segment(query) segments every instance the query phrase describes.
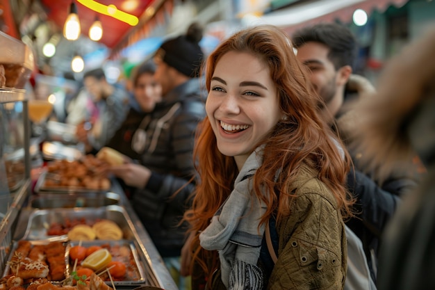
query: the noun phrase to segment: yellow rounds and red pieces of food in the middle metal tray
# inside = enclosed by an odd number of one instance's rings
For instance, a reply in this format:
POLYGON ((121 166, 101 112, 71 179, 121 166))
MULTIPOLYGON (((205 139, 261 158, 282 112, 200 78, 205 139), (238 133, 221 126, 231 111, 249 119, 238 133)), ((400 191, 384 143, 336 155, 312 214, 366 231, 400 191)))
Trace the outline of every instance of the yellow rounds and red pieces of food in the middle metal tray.
POLYGON ((95 239, 117 241, 124 236, 120 226, 112 220, 98 219, 91 223, 85 218, 72 221, 65 219, 65 225, 52 223, 47 229, 49 236, 61 234, 67 234, 70 241, 93 241, 95 239))

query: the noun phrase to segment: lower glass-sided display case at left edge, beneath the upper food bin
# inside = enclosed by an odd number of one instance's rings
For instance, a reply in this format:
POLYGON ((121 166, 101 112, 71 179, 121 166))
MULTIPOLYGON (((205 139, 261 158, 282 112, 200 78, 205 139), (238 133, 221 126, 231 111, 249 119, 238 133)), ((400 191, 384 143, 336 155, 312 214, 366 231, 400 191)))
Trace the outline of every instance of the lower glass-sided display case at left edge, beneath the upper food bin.
POLYGON ((30 193, 29 121, 24 90, 0 88, 0 259, 30 193))

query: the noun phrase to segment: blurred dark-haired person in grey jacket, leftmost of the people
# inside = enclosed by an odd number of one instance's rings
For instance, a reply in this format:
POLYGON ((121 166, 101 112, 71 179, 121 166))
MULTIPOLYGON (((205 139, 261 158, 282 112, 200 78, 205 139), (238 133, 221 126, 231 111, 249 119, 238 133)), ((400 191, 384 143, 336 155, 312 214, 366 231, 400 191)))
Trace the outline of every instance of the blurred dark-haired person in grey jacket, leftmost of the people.
POLYGON ((120 86, 108 83, 101 68, 85 72, 83 84, 89 95, 86 117, 77 124, 76 137, 85 144, 85 152, 95 153, 124 121, 129 110, 129 95, 120 86))

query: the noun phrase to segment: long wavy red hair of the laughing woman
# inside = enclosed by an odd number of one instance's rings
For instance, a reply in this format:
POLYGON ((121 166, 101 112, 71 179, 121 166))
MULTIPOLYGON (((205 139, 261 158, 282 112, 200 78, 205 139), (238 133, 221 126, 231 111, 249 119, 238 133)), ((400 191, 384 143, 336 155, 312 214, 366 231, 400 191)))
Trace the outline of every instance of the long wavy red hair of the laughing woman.
MULTIPOLYGON (((303 164, 318 171, 318 178, 334 194, 343 217, 352 216, 352 198, 345 188, 350 158, 318 114, 322 101, 312 89, 304 67, 297 61, 288 37, 274 26, 256 26, 224 40, 206 61, 208 91, 217 62, 229 51, 253 54, 268 65, 270 76, 277 86, 281 111, 287 116, 262 142, 265 144, 263 164, 254 175, 255 194, 267 205, 261 223, 266 223, 274 212, 277 212, 278 219, 291 214, 290 205, 294 198, 292 184, 303 164), (276 178, 279 171, 281 174, 276 178), (260 191, 264 186, 271 193, 266 197, 260 191)), ((196 233, 191 243, 195 251, 194 259, 207 275, 217 264, 207 267, 206 260, 217 256, 215 252, 207 252, 197 246, 199 232, 209 225, 217 209, 231 193, 238 168, 233 157, 224 156, 217 150, 208 118, 199 124, 194 156, 199 181, 192 208, 186 211, 184 218, 191 225, 190 231, 196 233)))

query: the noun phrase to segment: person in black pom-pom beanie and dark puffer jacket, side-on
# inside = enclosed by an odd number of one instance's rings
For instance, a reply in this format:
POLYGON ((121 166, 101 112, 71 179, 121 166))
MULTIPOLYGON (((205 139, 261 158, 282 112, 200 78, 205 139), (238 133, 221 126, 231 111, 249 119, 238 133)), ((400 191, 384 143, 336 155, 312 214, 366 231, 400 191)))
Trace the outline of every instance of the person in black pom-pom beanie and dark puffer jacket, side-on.
POLYGON ((163 95, 143 128, 140 162, 110 168, 126 185, 135 188, 131 196, 133 209, 179 289, 185 289, 188 283, 179 275, 187 229, 180 221, 190 207, 188 199, 195 188, 192 152, 197 124, 205 116, 202 97, 206 92, 198 78, 204 56, 198 45, 201 39, 202 27, 191 24, 186 35, 166 40, 158 49, 154 77, 163 95))

